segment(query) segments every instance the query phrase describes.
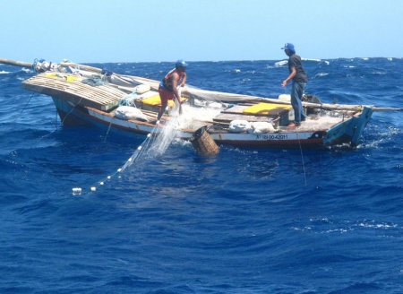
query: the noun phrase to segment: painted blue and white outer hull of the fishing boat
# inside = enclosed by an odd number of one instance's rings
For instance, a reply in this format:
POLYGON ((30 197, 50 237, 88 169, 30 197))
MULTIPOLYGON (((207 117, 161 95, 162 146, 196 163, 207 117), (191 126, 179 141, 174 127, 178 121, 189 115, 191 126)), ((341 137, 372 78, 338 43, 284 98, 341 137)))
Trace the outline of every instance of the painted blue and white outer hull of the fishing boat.
MULTIPOLYGON (((64 125, 94 125, 108 132, 132 136, 138 134, 159 134, 163 126, 151 125, 137 120, 122 120, 95 108, 74 105, 73 102, 53 97, 59 116, 64 125)), ((350 117, 330 130, 321 131, 282 131, 269 134, 233 134, 211 131, 211 138, 220 145, 262 148, 323 148, 335 144, 351 143, 356 145, 364 126, 372 114, 370 108, 364 109, 357 117, 350 117)), ((180 131, 181 139, 190 140, 192 130, 180 131)))

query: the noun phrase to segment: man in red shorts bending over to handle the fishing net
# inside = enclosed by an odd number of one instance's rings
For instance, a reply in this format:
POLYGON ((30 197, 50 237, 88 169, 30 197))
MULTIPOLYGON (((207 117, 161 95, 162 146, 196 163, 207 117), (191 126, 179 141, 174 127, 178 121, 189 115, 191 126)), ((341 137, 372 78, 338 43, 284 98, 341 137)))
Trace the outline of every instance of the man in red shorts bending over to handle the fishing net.
POLYGON ((186 83, 186 66, 184 60, 176 61, 175 68, 171 70, 159 83, 159 98, 161 99, 161 108, 157 120, 162 117, 167 108, 168 100, 175 100, 179 105, 179 114, 182 114, 181 95, 178 86, 184 87, 186 83))

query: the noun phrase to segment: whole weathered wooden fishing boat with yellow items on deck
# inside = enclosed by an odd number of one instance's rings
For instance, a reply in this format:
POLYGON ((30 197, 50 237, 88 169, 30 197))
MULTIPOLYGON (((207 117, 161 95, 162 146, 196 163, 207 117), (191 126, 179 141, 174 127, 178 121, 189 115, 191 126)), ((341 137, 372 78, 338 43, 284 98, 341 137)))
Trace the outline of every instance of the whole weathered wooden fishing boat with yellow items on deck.
POLYGON ((155 124, 160 107, 158 81, 105 73, 90 66, 72 66, 49 65, 43 73, 22 84, 29 91, 50 96, 64 125, 89 124, 124 135, 158 135, 175 121, 176 135, 184 140, 190 140, 196 130, 206 126, 218 144, 279 148, 355 146, 373 110, 381 109, 323 104, 308 95, 303 103, 306 120, 290 128, 287 125, 293 111, 287 97, 268 99, 184 87, 185 119, 180 119, 184 115, 170 115, 175 108, 172 104, 160 123, 155 124))

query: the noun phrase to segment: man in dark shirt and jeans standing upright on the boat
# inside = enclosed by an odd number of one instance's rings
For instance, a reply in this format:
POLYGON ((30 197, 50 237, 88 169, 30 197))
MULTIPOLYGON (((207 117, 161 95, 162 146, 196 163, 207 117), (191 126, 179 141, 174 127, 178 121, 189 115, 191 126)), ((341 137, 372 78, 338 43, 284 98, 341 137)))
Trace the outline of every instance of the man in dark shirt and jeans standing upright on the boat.
POLYGON ((283 87, 286 87, 288 82, 290 82, 291 80, 293 81, 293 88, 291 90, 291 105, 294 109, 294 122, 290 123, 288 126, 296 127, 298 125, 301 125, 301 122, 306 119, 304 108, 302 105, 302 98, 306 82, 308 82, 308 76, 304 72, 301 57, 296 55, 296 49, 294 48, 294 45, 291 43, 286 43, 286 45, 281 49, 283 49, 289 57, 289 75, 287 79, 281 83, 281 85, 283 87))

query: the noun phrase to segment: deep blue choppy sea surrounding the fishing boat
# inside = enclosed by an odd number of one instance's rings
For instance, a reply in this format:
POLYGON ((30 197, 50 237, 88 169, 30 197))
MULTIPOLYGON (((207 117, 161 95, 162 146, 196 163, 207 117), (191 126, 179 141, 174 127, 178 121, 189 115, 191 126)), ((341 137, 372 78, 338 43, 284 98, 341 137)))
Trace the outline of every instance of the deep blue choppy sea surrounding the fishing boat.
MULTIPOLYGON (((159 80, 170 63, 107 66, 159 80)), ((324 102, 403 108, 403 59, 304 60, 324 102)), ((279 61, 190 62, 188 83, 277 97, 279 61)), ((403 112, 356 149, 172 143, 63 126, 0 65, 0 293, 403 293, 403 112), (90 186, 114 175, 91 192, 90 186), (73 195, 73 187, 82 187, 73 195)))

